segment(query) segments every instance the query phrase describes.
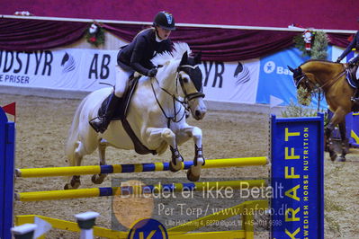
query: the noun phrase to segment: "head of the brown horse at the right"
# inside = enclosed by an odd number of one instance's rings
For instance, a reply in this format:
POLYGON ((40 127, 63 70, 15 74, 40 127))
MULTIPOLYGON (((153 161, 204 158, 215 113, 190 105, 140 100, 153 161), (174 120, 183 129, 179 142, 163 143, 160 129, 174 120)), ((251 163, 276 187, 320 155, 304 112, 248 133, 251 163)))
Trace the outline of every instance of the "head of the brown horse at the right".
POLYGON ((315 83, 310 79, 312 76, 310 73, 304 73, 301 66, 293 69, 288 66, 289 70, 293 73, 293 80, 295 87, 297 88, 297 99, 302 105, 310 105, 311 93, 315 88, 315 83))

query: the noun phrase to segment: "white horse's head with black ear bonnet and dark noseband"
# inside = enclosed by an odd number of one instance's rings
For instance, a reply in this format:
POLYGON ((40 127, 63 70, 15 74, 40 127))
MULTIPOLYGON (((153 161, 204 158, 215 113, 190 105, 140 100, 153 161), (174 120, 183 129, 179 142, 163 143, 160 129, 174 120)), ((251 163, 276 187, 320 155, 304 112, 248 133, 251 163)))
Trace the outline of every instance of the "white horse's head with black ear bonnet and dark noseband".
POLYGON ((201 63, 201 54, 194 58, 188 57, 187 51, 181 59, 177 68, 178 80, 181 84, 182 97, 191 110, 195 120, 202 120, 207 108, 204 104, 202 93, 202 71, 199 67, 201 63))

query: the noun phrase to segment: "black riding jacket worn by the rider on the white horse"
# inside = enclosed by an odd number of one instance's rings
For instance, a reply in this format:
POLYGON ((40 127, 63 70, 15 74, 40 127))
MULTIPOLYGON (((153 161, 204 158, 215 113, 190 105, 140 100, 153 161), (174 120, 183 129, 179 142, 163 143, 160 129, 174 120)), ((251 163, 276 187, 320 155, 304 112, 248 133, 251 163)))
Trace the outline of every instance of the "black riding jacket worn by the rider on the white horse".
POLYGON ((156 31, 148 29, 139 33, 129 45, 122 48, 117 55, 117 62, 130 66, 142 75, 148 75, 148 71, 153 68, 150 61, 157 53, 172 50, 171 40, 157 42, 156 31))

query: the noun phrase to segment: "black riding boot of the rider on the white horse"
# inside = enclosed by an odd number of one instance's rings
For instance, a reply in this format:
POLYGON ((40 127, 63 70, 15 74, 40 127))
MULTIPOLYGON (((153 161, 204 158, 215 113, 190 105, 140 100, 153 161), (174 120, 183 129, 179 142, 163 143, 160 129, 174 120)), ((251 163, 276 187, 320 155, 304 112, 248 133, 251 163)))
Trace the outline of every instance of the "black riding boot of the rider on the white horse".
POLYGON ((107 129, 112 119, 113 113, 115 111, 117 103, 121 98, 117 97, 114 93, 111 94, 110 100, 106 105, 106 110, 102 116, 98 116, 94 120, 91 120, 89 123, 98 133, 102 133, 107 129))

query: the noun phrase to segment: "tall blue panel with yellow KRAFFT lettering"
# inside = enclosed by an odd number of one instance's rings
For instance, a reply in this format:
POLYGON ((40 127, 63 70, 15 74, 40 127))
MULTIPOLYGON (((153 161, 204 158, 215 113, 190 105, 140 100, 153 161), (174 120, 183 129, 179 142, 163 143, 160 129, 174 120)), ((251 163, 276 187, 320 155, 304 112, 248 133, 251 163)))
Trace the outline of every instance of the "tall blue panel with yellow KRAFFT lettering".
POLYGON ((272 119, 273 238, 324 238, 323 134, 323 115, 272 119))

